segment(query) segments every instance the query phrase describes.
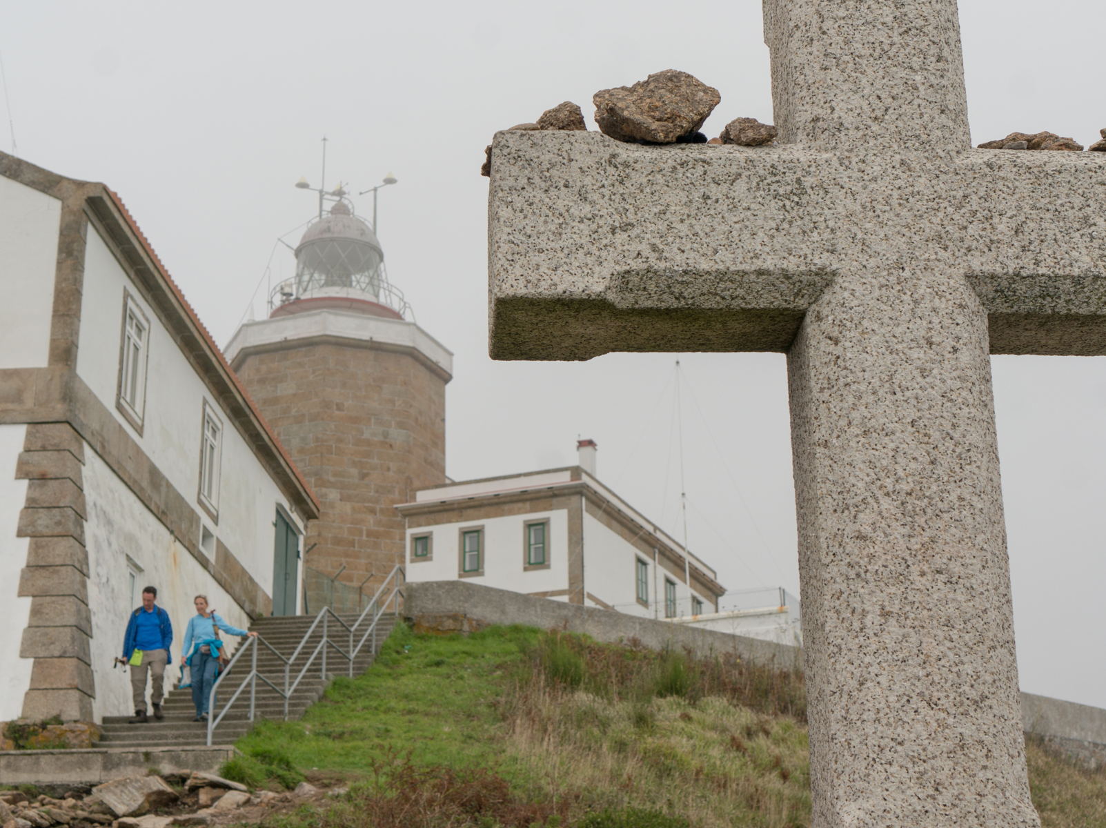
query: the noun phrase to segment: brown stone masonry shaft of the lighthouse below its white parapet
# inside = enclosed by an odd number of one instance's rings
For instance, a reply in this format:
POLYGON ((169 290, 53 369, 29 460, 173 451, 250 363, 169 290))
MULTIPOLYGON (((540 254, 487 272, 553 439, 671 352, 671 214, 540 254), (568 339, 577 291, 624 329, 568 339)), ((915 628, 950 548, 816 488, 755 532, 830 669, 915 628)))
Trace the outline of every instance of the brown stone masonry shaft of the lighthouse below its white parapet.
POLYGON ((234 367, 322 503, 306 566, 365 590, 404 560, 394 509, 446 482, 446 381, 413 354, 313 343, 236 356, 234 367))

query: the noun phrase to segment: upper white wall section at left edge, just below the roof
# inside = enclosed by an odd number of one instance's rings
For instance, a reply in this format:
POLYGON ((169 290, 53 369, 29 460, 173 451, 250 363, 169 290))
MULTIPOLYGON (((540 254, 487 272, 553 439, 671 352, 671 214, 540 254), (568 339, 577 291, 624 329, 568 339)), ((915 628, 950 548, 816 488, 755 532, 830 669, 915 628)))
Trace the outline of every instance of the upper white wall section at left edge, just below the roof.
POLYGON ((50 357, 62 202, 0 176, 0 368, 43 368, 50 357))

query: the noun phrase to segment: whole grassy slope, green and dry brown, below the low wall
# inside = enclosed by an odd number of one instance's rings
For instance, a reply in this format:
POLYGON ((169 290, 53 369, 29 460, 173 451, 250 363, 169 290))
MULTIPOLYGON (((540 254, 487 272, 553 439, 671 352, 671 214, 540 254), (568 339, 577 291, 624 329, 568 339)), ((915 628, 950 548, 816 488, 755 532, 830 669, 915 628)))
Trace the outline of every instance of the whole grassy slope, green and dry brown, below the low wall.
MULTIPOLYGON (((810 825, 802 672, 732 656, 494 627, 396 627, 299 722, 239 740, 223 775, 349 780, 267 828, 799 828, 810 825)), ((1044 828, 1106 828, 1106 772, 1027 745, 1044 828)))

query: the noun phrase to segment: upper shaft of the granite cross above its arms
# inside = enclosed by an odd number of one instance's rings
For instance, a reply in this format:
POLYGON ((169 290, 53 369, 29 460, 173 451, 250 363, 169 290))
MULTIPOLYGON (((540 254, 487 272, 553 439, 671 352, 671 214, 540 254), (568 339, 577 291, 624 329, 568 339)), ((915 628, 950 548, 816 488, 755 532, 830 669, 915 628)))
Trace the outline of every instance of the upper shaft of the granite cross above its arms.
POLYGON ((781 144, 969 146, 956 0, 763 0, 781 144))

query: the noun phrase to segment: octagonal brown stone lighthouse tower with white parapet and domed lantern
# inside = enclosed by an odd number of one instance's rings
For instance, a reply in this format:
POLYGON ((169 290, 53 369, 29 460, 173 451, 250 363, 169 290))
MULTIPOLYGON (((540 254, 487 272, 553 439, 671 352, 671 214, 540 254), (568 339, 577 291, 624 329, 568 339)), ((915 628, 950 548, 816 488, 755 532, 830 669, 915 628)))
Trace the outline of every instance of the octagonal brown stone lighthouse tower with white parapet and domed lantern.
POLYGON ((227 346, 322 503, 302 544, 312 614, 324 601, 353 609, 364 600, 358 586, 372 596, 404 562, 394 506, 446 482, 452 373, 452 354, 407 318, 409 306, 388 283, 375 201, 371 226, 341 187, 317 192, 319 218, 295 249, 294 279, 273 291, 269 317, 247 322, 227 346))

